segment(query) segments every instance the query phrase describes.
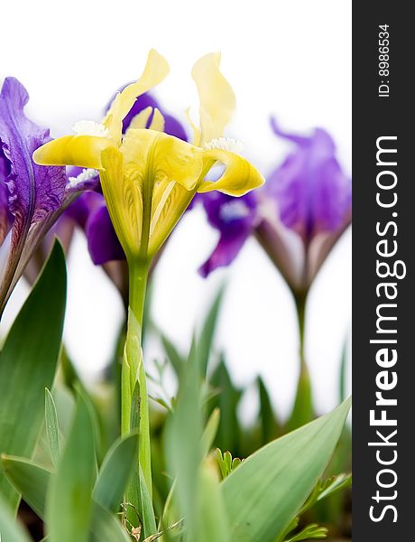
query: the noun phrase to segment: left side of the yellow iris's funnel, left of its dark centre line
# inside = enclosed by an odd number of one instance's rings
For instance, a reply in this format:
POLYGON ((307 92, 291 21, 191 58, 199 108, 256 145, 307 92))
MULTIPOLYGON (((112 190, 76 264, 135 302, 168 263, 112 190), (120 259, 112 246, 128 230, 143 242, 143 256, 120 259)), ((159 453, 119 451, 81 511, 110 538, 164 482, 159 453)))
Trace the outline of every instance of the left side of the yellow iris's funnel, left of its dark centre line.
POLYGON ((126 257, 136 257, 143 223, 141 179, 124 170, 123 155, 115 148, 106 149, 101 161, 99 178, 115 233, 126 257))

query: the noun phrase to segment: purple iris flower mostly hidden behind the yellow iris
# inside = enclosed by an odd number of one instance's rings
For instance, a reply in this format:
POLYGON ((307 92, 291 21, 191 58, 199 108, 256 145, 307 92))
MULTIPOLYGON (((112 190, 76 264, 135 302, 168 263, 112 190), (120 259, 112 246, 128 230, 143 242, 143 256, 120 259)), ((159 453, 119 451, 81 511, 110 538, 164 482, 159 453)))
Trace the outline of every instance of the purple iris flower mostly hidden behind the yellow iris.
MULTIPOLYGON (((133 118, 146 107, 157 107, 161 111, 165 122, 164 131, 167 134, 175 135, 187 141, 186 132, 180 122, 166 113, 160 107, 159 102, 149 93, 145 93, 136 99, 134 106, 124 118, 124 132, 130 126, 133 118)), ((150 126, 152 122, 152 115, 148 120, 147 126, 150 126)), ((82 173, 82 169, 72 168, 69 174, 76 176, 79 173, 82 173)), ((88 238, 89 254, 94 264, 100 266, 112 260, 124 260, 124 251, 115 235, 114 227, 106 209, 104 196, 101 193, 97 193, 95 196, 95 198, 91 198, 88 192, 81 195, 77 201, 74 201, 68 212, 65 213, 66 217, 69 216, 75 219, 78 225, 84 229, 88 238)))

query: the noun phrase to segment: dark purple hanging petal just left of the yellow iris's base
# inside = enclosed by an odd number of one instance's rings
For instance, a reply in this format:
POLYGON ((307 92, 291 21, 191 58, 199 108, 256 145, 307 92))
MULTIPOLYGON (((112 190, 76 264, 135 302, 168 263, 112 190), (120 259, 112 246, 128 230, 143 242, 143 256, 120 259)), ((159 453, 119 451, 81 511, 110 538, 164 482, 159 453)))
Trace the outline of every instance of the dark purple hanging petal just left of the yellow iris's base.
POLYGON ((86 234, 89 254, 96 266, 111 260, 125 259, 105 203, 89 214, 86 234))

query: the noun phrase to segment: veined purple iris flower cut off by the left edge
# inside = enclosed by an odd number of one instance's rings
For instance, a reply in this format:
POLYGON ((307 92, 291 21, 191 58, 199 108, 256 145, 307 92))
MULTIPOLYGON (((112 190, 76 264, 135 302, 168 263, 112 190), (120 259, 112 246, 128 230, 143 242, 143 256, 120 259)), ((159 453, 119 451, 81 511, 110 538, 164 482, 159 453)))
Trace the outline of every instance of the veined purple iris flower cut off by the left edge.
POLYGON ((0 313, 32 250, 60 211, 67 184, 65 168, 32 161, 33 151, 51 137, 49 129, 24 115, 28 100, 17 79, 5 79, 0 93, 0 313))

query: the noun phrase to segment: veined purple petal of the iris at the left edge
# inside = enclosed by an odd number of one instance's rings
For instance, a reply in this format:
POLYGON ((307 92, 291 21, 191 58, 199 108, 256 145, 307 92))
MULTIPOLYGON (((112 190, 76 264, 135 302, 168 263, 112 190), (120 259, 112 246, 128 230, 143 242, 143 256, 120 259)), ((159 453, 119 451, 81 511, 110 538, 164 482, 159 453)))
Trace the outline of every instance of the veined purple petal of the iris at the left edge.
POLYGON ((32 153, 51 140, 49 130, 35 125, 23 113, 29 95, 14 78, 5 79, 0 94, 0 139, 10 165, 5 182, 14 215, 13 245, 30 226, 60 208, 67 177, 63 167, 34 164, 32 153))

